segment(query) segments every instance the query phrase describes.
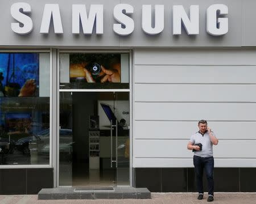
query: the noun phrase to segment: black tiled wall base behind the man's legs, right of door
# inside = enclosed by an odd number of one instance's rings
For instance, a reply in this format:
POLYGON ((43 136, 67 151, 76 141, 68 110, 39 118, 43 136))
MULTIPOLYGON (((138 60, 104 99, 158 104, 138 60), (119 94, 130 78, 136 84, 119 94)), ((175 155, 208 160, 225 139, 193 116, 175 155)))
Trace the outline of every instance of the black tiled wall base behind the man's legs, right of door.
MULTIPOLYGON (((197 192, 194 168, 134 168, 134 187, 151 192, 197 192)), ((207 179, 204 174, 204 191, 207 179)), ((256 168, 214 168, 214 192, 256 192, 256 168)))

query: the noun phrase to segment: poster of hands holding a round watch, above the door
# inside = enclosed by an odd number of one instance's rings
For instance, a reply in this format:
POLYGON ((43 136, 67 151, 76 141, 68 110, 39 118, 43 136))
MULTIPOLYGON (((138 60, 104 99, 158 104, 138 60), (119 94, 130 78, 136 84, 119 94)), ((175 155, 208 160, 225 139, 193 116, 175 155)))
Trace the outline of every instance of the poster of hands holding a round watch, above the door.
POLYGON ((71 83, 121 83, 121 54, 70 54, 69 78, 71 83))

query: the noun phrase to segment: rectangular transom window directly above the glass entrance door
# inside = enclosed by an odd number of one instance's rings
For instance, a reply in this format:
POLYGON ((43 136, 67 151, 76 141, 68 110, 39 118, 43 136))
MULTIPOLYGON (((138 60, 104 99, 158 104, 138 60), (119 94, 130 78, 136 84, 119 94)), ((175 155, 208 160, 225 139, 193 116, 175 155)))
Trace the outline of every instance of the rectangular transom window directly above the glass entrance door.
POLYGON ((129 53, 60 53, 60 89, 117 88, 129 88, 129 53))

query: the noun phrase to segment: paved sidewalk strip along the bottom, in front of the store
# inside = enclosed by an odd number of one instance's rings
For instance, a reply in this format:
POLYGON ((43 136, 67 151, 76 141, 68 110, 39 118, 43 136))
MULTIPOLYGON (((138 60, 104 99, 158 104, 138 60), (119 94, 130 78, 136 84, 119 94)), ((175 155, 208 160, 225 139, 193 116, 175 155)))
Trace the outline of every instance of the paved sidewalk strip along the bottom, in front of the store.
MULTIPOLYGON (((152 199, 96 199, 96 200, 51 200, 38 201, 37 195, 0 196, 0 204, 196 204, 208 203, 207 194, 203 200, 196 199, 197 193, 152 193, 152 199)), ((215 193, 215 204, 255 204, 256 193, 215 193)))

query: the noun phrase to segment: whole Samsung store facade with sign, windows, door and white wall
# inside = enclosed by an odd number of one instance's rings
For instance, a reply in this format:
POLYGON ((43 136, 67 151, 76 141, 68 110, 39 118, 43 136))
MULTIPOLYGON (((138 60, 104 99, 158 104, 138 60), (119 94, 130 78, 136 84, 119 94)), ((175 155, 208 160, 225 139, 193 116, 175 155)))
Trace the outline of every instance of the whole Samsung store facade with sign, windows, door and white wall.
POLYGON ((0 194, 194 192, 202 118, 216 191, 255 192, 256 3, 217 3, 2 1, 0 194))

